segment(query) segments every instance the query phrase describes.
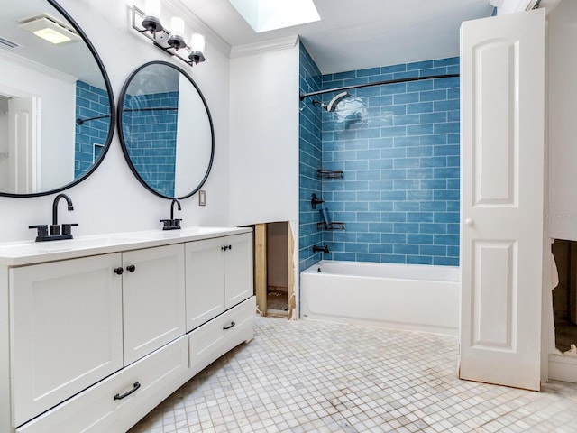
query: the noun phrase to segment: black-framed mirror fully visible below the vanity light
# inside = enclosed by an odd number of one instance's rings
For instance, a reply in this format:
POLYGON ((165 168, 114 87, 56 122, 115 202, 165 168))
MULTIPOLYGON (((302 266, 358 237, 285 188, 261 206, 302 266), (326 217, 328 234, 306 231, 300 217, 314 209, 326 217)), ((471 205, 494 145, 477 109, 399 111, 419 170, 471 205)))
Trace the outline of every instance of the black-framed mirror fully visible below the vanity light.
POLYGON ((215 155, 213 121, 197 84, 178 66, 151 61, 124 83, 118 101, 124 157, 162 198, 188 198, 206 182, 215 155))

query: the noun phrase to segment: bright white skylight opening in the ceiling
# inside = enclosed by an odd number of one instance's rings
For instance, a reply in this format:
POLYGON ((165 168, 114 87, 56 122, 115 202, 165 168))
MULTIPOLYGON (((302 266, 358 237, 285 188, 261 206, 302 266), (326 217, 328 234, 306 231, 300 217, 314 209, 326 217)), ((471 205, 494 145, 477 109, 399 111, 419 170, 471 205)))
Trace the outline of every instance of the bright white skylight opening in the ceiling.
POLYGON ((255 32, 313 23, 321 17, 313 0, 228 0, 255 32))

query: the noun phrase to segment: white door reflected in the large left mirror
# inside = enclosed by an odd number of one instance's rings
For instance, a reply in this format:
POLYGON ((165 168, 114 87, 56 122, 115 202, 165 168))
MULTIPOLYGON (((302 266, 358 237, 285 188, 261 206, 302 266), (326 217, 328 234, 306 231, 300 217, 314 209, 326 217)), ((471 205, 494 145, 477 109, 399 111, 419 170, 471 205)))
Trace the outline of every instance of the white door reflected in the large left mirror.
POLYGON ((20 97, 8 101, 9 190, 29 194, 41 189, 41 99, 20 97))

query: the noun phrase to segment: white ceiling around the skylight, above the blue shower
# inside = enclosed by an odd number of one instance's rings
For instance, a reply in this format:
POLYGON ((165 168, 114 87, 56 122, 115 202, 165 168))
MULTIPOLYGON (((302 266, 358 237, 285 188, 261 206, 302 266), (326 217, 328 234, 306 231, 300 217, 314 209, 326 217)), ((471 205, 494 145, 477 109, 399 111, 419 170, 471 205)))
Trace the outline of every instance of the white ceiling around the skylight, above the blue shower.
POLYGON ((314 0, 321 21, 256 33, 228 0, 179 0, 231 47, 298 34, 323 74, 459 55, 489 0, 314 0))

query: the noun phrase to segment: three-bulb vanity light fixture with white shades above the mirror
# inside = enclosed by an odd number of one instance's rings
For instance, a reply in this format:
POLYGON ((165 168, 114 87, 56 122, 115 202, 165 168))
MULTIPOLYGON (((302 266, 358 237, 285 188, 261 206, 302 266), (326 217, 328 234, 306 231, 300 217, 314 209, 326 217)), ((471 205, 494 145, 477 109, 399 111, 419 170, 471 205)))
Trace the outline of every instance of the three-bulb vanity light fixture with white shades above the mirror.
POLYGON ((133 29, 170 56, 177 57, 190 66, 205 61, 205 37, 194 33, 188 45, 184 37, 184 20, 178 16, 170 20, 170 29, 160 23, 160 1, 147 0, 146 12, 133 5, 133 29))

